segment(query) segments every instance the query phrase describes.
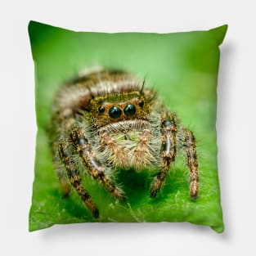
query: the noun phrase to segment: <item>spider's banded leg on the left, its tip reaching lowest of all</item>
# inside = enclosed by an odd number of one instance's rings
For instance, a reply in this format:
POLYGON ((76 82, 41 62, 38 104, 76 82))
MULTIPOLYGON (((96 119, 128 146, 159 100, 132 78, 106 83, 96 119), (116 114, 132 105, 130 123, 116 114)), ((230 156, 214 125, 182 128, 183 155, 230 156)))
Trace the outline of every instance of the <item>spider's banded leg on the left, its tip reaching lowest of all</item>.
POLYGON ((65 169, 70 179, 70 183, 74 186, 74 189, 82 198, 84 204, 90 210, 94 218, 99 217, 99 210, 97 209, 97 205, 93 203, 91 200, 91 196, 88 194, 81 184, 81 177, 79 174, 79 170, 76 168, 74 164, 74 159, 72 154, 70 154, 69 144, 67 142, 61 142, 58 147, 60 158, 65 164, 65 169))

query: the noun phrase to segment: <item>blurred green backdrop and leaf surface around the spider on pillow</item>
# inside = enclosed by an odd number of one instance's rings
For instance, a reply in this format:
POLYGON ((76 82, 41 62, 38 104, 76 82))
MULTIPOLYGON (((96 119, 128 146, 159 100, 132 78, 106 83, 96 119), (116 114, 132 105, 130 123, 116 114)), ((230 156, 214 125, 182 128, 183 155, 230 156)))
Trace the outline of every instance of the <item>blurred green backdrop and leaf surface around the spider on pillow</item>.
POLYGON ((128 195, 126 204, 116 201, 91 178, 83 177, 100 209, 98 221, 192 222, 223 231, 215 122, 218 45, 226 31, 227 25, 175 34, 103 34, 29 23, 38 124, 29 231, 56 223, 95 221, 75 192, 62 198, 46 133, 56 90, 65 80, 93 66, 129 70, 141 79, 146 76, 146 83, 195 133, 200 166, 200 197, 196 201, 189 197, 189 171, 182 154, 155 200, 149 197, 154 173, 147 170, 116 173, 115 180, 128 195))

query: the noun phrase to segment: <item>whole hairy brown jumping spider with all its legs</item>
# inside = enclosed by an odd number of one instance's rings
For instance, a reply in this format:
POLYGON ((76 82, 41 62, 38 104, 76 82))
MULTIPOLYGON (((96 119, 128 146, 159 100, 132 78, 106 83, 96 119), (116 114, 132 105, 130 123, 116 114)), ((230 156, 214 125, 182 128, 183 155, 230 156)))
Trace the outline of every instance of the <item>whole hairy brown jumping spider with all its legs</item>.
POLYGON ((88 173, 118 200, 124 191, 111 178, 116 168, 158 169, 150 186, 155 197, 164 184, 177 150, 190 169, 190 195, 199 190, 195 137, 163 106, 144 82, 120 70, 101 70, 67 83, 56 95, 49 136, 61 186, 74 187, 97 218, 99 211, 83 187, 88 173), (67 180, 70 182, 68 182, 67 180))

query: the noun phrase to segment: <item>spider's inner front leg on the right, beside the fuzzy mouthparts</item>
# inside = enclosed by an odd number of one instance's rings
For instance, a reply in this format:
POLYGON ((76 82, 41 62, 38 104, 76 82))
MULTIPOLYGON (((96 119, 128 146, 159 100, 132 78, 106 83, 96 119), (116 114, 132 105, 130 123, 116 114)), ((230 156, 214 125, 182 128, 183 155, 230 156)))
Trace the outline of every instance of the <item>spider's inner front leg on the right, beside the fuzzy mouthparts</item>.
POLYGON ((165 177, 167 177, 168 169, 175 160, 176 156, 176 132, 177 126, 173 115, 165 114, 161 116, 161 164, 154 181, 150 186, 150 197, 155 197, 164 185, 165 177))

